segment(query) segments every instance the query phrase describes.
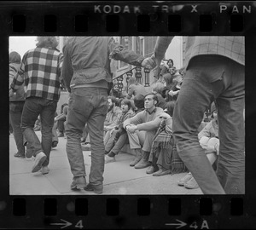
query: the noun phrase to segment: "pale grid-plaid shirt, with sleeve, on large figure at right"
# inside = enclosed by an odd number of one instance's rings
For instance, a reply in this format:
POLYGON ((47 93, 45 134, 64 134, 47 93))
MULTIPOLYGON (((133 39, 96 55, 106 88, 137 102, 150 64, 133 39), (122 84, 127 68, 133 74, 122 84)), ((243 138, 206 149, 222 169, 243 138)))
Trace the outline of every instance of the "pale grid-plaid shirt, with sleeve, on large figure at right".
MULTIPOLYGON (((173 37, 158 37, 154 47, 154 57, 162 60, 166 49, 172 42, 173 37)), ((184 37, 185 38, 185 61, 184 65, 189 65, 189 60, 197 55, 222 55, 235 60, 241 65, 245 65, 245 43, 244 37, 184 37)))

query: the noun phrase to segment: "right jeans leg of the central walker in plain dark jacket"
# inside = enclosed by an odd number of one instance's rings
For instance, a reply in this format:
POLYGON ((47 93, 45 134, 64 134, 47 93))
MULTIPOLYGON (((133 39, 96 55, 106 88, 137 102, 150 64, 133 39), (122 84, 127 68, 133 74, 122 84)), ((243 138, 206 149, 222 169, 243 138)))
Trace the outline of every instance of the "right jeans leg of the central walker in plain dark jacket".
POLYGON ((107 89, 95 89, 94 110, 88 119, 88 130, 91 143, 91 166, 89 181, 92 186, 102 186, 104 172, 104 121, 108 112, 107 89))

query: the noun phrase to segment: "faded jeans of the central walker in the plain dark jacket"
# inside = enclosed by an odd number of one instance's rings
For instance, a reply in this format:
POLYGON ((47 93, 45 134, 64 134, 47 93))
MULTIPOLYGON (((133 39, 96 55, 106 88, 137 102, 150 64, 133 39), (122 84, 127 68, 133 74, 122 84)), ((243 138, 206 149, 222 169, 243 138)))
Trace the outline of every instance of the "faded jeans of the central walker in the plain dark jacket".
POLYGON ((73 177, 84 176, 81 136, 87 124, 90 135, 91 166, 89 181, 102 185, 104 172, 104 121, 108 112, 108 89, 72 89, 67 112, 67 157, 73 177))

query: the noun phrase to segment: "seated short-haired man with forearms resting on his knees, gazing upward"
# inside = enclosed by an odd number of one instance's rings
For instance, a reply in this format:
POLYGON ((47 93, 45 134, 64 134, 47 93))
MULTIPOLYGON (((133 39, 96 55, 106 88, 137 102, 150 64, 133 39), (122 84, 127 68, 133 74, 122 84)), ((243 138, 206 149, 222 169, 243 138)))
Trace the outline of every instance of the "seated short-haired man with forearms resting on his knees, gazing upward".
MULTIPOLYGON (((142 112, 138 112, 132 118, 125 120, 124 127, 127 131, 129 137, 130 146, 133 144, 133 149, 141 149, 141 146, 137 137, 137 140, 134 140, 134 136, 131 135, 134 132, 144 130, 145 132, 145 141, 143 143, 143 156, 141 160, 135 164, 135 169, 143 169, 148 167, 151 163, 148 162, 149 153, 151 150, 151 145, 153 142, 154 135, 158 129, 158 126, 150 125, 150 121, 153 121, 160 112, 163 112, 163 109, 156 107, 158 103, 157 95, 154 93, 148 93, 144 97, 144 107, 145 109, 142 112)), ((139 154, 139 153, 138 153, 139 154)), ((139 156, 138 156, 139 158, 139 156)))

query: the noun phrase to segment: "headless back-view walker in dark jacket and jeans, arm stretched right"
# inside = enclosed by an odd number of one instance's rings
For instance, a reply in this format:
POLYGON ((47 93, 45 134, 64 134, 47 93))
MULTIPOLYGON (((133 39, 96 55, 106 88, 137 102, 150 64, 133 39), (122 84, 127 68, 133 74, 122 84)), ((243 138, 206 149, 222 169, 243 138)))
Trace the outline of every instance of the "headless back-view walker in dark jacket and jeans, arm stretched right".
POLYGON ((73 173, 71 189, 102 193, 104 172, 104 121, 108 112, 110 59, 145 66, 144 57, 126 50, 113 37, 71 37, 63 49, 62 78, 70 94, 67 113, 67 157, 73 173), (87 124, 91 143, 89 184, 80 145, 87 124), (85 187, 86 186, 86 187, 85 187))

